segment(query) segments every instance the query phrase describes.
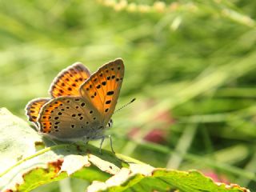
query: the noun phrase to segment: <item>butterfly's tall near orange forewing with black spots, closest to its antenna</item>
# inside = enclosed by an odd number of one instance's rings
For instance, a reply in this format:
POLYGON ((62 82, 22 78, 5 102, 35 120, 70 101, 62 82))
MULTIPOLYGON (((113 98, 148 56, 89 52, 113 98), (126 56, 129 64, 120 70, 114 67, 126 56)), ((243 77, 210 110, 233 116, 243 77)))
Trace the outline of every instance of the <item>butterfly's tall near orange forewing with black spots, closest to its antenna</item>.
POLYGON ((123 76, 124 65, 118 58, 99 68, 80 87, 82 98, 98 110, 104 126, 114 113, 123 76))

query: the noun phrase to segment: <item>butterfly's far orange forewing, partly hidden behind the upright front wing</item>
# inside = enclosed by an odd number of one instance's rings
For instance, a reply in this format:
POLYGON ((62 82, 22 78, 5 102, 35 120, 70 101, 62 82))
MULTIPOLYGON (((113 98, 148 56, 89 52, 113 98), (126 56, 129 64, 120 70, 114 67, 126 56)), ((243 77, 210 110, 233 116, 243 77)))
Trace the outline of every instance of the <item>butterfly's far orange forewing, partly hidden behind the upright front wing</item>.
POLYGON ((74 63, 62 70, 50 86, 50 94, 54 98, 65 95, 79 95, 79 87, 90 78, 90 71, 81 63, 74 63))

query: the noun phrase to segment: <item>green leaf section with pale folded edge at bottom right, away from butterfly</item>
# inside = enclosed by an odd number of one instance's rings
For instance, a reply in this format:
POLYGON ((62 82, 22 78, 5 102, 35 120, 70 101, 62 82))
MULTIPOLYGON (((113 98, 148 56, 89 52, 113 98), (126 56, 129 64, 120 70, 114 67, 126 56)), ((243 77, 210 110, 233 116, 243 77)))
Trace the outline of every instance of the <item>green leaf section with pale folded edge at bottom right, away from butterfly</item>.
POLYGON ((228 186, 215 183, 196 170, 179 171, 130 164, 130 169, 122 168, 118 174, 106 182, 93 182, 88 192, 96 191, 249 191, 238 185, 228 186))

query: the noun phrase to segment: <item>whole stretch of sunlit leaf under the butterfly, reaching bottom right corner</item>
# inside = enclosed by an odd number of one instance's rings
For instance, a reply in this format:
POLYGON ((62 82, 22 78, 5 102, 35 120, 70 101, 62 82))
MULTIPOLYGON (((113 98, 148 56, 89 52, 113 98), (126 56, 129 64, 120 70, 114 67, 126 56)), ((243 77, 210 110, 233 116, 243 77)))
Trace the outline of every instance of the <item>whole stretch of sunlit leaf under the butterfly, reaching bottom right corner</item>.
MULTIPOLYGON (((67 177, 92 182, 87 191, 246 191, 199 172, 154 168, 90 145, 54 144, 22 119, 0 109, 0 190, 30 191, 67 177), (38 150, 41 148, 41 150, 38 150), (113 176, 112 176, 113 175, 113 176)), ((249 191, 249 190, 247 190, 249 191)))

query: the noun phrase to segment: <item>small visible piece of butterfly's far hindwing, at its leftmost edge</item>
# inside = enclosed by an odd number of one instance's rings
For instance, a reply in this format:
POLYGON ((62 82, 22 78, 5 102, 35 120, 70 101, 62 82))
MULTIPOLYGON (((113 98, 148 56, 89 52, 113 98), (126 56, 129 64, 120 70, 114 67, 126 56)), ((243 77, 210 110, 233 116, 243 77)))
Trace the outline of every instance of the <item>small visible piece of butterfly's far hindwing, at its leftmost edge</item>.
POLYGON ((26 115, 30 122, 37 122, 39 111, 49 101, 50 98, 35 98, 26 105, 26 115))

